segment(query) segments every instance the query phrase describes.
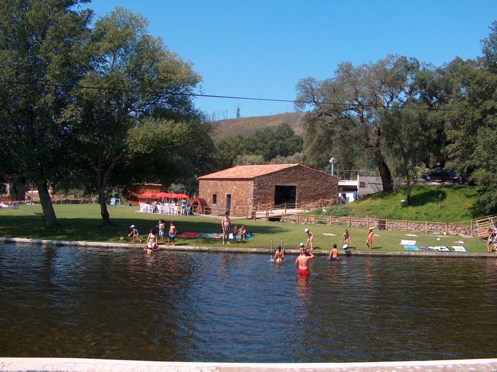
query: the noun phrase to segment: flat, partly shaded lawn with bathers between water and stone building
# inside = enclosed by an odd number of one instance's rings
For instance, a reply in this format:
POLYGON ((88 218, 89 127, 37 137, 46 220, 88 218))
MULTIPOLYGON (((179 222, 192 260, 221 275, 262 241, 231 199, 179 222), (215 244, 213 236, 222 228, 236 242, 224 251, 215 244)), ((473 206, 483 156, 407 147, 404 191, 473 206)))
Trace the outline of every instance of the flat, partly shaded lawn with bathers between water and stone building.
MULTIPOLYGON (((125 242, 131 242, 127 237, 129 226, 134 224, 140 230, 143 238, 147 237, 150 229, 155 228, 159 218, 164 218, 166 223, 174 222, 179 232, 205 232, 220 233, 221 219, 203 216, 171 216, 151 213, 139 213, 138 207, 115 206, 109 207, 111 227, 103 227, 100 218, 100 207, 93 204, 56 204, 54 205, 59 223, 58 228, 44 226, 40 215, 41 206, 21 205, 19 209, 0 209, 0 236, 11 238, 32 238, 51 240, 74 240, 92 242, 122 243, 119 238, 123 236, 125 242)), ((314 233, 315 248, 329 250, 333 243, 340 247, 340 237, 345 227, 323 225, 296 225, 282 222, 252 221, 247 219, 232 219, 233 225, 244 224, 248 233, 254 233, 251 241, 243 241, 227 247, 268 248, 271 239, 273 245, 278 246, 283 240, 286 249, 298 249, 300 242, 305 242, 307 234, 304 228, 309 227, 314 233), (329 236, 324 234, 335 234, 329 236)), ((167 225, 166 225, 167 226, 167 225)), ((348 228, 352 243, 350 250, 366 250, 366 229, 348 228)), ((415 233, 417 237, 408 237, 405 231, 376 231, 377 238, 373 244, 375 252, 405 251, 400 246, 401 239, 416 240, 417 246, 444 245, 450 248, 455 240, 464 241, 468 252, 487 252, 486 244, 478 238, 461 238, 459 236, 437 236, 432 234, 415 233)), ((177 238, 176 245, 220 247, 221 239, 215 238, 177 238)), ((455 253, 454 253, 455 254, 455 253)))

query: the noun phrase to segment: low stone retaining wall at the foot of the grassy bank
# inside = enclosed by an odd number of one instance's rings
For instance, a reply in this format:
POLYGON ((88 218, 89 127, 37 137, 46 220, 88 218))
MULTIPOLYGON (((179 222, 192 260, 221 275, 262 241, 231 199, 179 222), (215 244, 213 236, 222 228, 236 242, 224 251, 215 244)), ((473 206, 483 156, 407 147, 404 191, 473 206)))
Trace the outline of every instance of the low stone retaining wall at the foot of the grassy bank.
POLYGON ((374 227, 377 230, 410 231, 432 234, 472 235, 471 226, 445 225, 445 223, 422 221, 399 221, 377 218, 331 217, 294 214, 283 216, 285 222, 304 225, 319 224, 329 226, 374 227))

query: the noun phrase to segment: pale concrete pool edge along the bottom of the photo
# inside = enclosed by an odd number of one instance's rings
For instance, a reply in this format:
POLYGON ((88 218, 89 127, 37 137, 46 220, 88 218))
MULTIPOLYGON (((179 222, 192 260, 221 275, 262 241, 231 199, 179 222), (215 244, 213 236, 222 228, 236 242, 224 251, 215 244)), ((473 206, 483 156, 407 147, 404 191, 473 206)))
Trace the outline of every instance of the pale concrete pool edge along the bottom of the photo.
POLYGON ((360 363, 210 363, 148 362, 78 358, 0 358, 0 371, 170 371, 170 372, 250 372, 250 371, 497 371, 497 359, 443 361, 360 362, 360 363))

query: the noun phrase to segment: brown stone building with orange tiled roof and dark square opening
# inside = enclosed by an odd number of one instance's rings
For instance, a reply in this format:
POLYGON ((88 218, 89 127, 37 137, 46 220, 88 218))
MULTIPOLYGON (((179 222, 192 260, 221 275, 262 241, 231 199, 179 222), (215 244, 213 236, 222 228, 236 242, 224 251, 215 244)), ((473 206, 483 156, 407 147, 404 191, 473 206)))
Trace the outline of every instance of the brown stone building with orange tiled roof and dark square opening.
POLYGON ((257 203, 336 203, 337 195, 337 177, 301 164, 237 166, 199 177, 199 199, 230 211, 257 203))

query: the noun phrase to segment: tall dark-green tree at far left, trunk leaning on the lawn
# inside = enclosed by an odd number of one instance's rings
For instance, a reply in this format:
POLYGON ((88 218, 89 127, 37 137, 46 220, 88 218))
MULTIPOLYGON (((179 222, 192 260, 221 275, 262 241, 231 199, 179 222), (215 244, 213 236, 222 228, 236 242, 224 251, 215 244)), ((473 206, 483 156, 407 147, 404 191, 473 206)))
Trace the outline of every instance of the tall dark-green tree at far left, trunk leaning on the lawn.
POLYGON ((0 2, 1 155, 11 174, 38 187, 47 226, 58 225, 49 185, 71 172, 61 157, 74 138, 59 118, 88 66, 92 13, 84 2, 0 2))

